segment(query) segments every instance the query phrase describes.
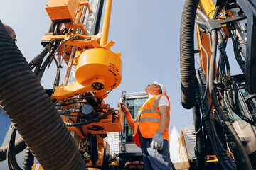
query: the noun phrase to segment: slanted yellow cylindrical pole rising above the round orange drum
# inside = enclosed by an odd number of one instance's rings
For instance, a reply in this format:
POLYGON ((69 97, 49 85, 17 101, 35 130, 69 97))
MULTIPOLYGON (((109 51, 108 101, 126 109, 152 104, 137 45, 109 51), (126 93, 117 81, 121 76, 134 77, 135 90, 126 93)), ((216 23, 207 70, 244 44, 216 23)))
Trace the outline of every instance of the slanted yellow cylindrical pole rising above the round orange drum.
POLYGON ((100 40, 100 45, 104 46, 107 44, 107 38, 110 28, 110 16, 111 16, 112 0, 107 0, 105 7, 104 21, 102 26, 102 38, 100 40))

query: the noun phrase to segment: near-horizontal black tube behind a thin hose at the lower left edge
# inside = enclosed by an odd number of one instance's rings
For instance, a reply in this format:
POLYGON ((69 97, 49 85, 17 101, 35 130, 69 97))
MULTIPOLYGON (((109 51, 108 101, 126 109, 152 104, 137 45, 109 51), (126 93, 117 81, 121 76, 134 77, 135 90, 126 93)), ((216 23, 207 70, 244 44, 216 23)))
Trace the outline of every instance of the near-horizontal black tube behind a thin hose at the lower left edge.
MULTIPOLYGON (((0 162, 6 160, 7 149, 8 145, 0 148, 0 162)), ((18 154, 24 149, 26 149, 26 143, 23 141, 22 137, 20 137, 15 141, 14 154, 18 154)))

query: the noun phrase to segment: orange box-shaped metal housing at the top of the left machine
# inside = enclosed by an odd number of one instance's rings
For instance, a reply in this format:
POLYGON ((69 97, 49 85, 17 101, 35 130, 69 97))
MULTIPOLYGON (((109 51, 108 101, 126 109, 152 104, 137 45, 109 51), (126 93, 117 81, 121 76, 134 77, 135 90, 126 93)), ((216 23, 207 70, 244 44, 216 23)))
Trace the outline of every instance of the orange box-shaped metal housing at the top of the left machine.
POLYGON ((52 21, 68 19, 73 22, 79 6, 80 0, 49 0, 46 11, 52 21))

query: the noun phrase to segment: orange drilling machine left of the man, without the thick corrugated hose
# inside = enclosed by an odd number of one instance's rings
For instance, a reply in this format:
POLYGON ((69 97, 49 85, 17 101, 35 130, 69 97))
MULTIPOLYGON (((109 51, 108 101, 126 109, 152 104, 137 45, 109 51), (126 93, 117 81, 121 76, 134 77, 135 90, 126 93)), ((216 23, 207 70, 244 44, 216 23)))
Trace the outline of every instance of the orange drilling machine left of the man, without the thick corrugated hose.
POLYGON ((51 53, 57 57, 58 67, 61 60, 67 64, 64 80, 55 84, 51 99, 87 166, 102 166, 107 132, 123 131, 122 111, 103 101, 107 91, 122 81, 121 54, 112 52, 114 42, 107 41, 111 6, 112 0, 107 0, 102 32, 93 35, 87 33, 84 23, 86 14, 89 18, 95 13, 90 1, 49 0, 46 5, 53 31, 43 36, 42 44, 56 48, 51 53))

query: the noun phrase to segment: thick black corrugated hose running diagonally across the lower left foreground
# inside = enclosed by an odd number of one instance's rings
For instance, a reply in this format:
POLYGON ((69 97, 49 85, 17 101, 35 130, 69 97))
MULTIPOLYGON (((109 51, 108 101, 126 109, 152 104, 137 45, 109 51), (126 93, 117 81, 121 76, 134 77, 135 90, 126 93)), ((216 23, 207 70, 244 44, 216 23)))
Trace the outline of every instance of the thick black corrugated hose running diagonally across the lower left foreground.
POLYGON ((55 106, 1 21, 0 100, 43 169, 87 169, 55 106))

